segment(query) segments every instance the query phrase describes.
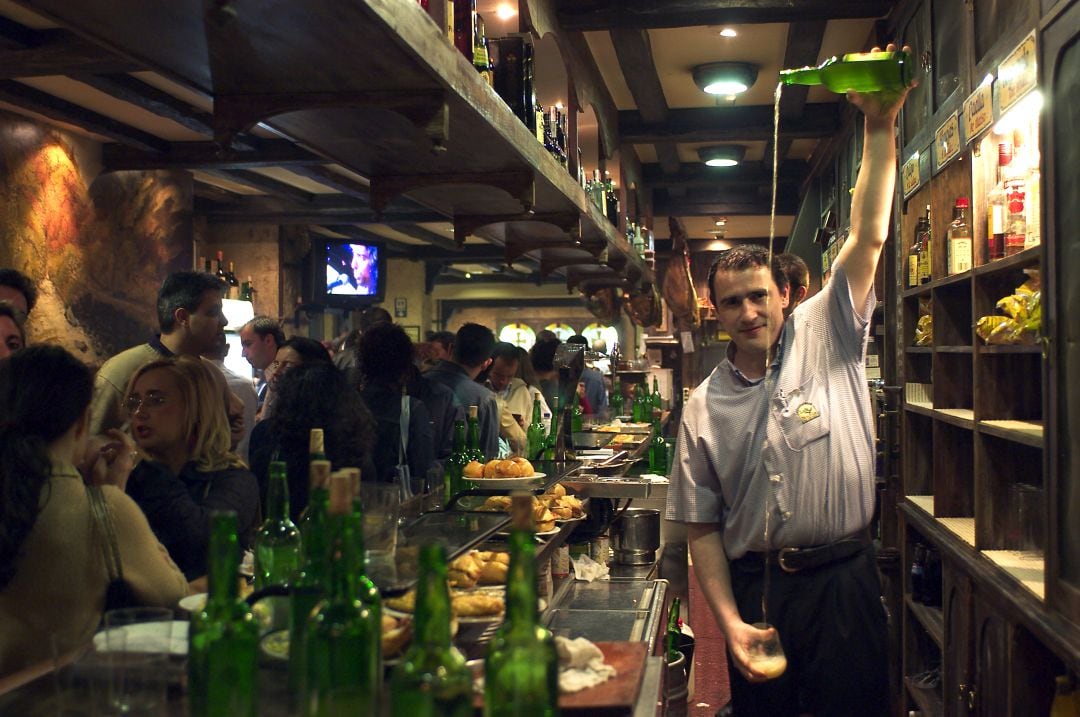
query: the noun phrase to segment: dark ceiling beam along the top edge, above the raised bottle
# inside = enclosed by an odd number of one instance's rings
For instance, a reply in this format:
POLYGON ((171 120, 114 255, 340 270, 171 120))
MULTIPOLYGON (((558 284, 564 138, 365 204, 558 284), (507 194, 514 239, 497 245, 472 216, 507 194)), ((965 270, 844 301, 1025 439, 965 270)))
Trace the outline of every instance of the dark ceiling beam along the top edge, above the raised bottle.
POLYGON ((561 0, 558 24, 567 30, 692 27, 882 17, 892 0, 561 0))

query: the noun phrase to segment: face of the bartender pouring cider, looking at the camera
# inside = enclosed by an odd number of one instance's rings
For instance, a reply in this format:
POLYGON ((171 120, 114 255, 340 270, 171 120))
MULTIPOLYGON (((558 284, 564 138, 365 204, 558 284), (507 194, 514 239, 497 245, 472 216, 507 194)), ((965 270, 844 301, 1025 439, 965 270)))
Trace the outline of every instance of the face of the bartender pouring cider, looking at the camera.
POLYGON ((713 288, 720 325, 731 336, 735 348, 744 354, 761 356, 764 362, 780 338, 787 292, 780 293, 765 267, 717 271, 713 288))

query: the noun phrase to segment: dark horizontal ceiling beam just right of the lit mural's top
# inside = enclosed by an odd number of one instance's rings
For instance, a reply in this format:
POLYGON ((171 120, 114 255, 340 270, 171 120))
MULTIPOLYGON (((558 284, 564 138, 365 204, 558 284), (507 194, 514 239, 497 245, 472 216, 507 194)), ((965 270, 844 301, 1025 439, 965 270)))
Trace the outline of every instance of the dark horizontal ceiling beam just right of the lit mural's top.
POLYGON ((258 149, 221 149, 213 141, 176 141, 162 151, 147 152, 121 145, 105 145, 102 163, 118 170, 249 170, 259 166, 325 164, 327 160, 287 139, 262 139, 258 149))

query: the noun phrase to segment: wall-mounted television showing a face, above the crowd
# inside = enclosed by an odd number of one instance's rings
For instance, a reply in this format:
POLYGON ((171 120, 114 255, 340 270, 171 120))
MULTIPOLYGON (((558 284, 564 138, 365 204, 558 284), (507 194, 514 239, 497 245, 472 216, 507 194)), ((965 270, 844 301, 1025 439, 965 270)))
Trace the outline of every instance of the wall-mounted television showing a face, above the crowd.
POLYGON ((387 292, 386 246, 349 239, 324 241, 313 282, 316 302, 345 309, 381 302, 387 292))

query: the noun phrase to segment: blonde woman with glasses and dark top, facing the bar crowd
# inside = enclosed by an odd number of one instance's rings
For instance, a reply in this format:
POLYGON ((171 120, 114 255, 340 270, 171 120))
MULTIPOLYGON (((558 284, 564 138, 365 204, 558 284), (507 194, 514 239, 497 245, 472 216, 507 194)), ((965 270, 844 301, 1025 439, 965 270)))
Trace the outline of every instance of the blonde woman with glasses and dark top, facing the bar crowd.
POLYGON ((190 356, 152 361, 127 387, 132 435, 148 458, 127 493, 188 580, 206 574, 212 511, 235 511, 245 547, 259 520, 258 484, 229 449, 224 390, 213 367, 190 356))

